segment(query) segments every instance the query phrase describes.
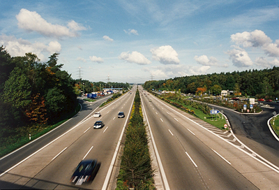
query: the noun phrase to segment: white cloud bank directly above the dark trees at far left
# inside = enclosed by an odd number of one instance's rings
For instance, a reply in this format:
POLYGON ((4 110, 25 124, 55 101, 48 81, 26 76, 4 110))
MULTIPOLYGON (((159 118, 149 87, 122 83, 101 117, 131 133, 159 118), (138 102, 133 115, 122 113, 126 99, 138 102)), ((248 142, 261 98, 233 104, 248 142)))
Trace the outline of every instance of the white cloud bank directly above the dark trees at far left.
POLYGON ((24 56, 25 53, 31 52, 42 61, 45 61, 45 52, 50 55, 61 51, 61 44, 57 41, 51 41, 48 45, 45 45, 38 42, 30 43, 22 38, 17 39, 15 36, 1 35, 0 44, 6 47, 12 57, 24 56))

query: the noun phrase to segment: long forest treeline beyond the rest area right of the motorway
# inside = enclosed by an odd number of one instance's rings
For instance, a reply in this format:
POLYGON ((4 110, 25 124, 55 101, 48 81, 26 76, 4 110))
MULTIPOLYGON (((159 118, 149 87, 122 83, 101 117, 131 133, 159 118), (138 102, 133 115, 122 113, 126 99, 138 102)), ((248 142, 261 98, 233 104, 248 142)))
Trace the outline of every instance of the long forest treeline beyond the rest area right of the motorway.
POLYGON ((213 73, 192 75, 168 80, 149 80, 145 89, 176 91, 190 94, 219 95, 222 90, 234 94, 255 96, 257 98, 279 97, 279 67, 264 70, 234 71, 232 73, 213 73))

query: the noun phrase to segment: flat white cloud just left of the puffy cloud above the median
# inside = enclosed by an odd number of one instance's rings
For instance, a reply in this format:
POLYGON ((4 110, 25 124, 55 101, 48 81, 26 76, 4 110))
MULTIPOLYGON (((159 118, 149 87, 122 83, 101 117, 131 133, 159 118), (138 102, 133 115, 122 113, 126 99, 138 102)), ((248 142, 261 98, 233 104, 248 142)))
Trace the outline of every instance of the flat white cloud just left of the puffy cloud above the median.
POLYGON ((144 57, 144 55, 140 52, 132 52, 131 54, 129 54, 129 52, 121 52, 119 59, 126 60, 129 63, 135 63, 139 65, 151 64, 151 61, 144 57))

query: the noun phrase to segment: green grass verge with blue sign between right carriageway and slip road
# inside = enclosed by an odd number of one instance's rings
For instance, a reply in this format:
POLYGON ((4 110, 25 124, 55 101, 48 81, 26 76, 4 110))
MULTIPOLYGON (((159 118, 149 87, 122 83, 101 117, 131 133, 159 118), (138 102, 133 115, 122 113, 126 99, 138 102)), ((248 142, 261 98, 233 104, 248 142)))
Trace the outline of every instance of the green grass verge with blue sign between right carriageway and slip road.
MULTIPOLYGON (((169 99, 169 101, 179 103, 179 101, 173 101, 171 99, 169 99)), ((195 117, 197 117, 199 119, 202 119, 204 122, 212 124, 213 126, 216 126, 219 129, 225 130, 224 124, 226 124, 226 119, 222 114, 220 114, 220 113, 218 113, 217 115, 204 114, 204 112, 202 112, 202 110, 199 110, 197 108, 193 108, 190 105, 185 105, 184 103, 179 103, 179 104, 183 105, 184 108, 188 108, 189 110, 193 110, 195 112, 195 115, 194 115, 195 117)))

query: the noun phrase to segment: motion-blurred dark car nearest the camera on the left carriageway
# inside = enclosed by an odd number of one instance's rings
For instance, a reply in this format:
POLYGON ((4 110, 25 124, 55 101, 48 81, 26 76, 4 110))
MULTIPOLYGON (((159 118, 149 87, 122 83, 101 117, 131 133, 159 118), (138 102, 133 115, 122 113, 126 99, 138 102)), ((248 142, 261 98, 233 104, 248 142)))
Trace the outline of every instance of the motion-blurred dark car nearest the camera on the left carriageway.
POLYGON ((92 179, 92 173, 96 169, 97 160, 83 160, 79 163, 72 175, 70 182, 81 185, 83 182, 89 182, 92 179))

